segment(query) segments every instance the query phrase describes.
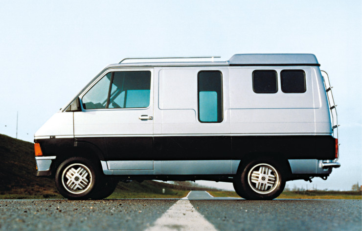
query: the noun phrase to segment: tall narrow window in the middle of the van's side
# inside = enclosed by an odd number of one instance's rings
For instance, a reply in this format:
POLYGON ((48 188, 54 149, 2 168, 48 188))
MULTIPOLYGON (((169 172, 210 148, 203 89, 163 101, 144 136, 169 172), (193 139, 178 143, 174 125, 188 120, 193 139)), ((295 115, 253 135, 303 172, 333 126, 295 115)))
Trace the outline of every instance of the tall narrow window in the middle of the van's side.
POLYGON ((198 74, 198 114, 200 122, 223 121, 222 74, 201 71, 198 74))

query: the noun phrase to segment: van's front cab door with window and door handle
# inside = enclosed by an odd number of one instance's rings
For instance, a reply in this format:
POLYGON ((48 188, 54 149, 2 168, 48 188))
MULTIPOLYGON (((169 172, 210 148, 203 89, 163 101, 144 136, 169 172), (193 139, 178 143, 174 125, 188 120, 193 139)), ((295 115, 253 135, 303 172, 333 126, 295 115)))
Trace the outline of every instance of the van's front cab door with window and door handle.
POLYGON ((107 160, 152 160, 151 89, 153 69, 117 69, 100 76, 80 96, 82 111, 74 112, 74 137, 105 147, 107 160))

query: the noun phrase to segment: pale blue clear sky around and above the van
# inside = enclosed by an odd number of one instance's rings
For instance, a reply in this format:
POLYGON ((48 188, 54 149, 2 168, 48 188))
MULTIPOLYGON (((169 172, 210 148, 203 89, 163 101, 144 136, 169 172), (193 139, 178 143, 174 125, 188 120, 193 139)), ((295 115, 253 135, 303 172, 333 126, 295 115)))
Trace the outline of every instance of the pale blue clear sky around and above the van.
MULTIPOLYGON (((341 167, 326 181, 287 185, 362 184, 361 0, 0 0, 0 6, 0 134, 32 142, 50 116, 123 58, 312 53, 334 87, 341 167)), ((232 190, 231 183, 198 183, 232 190)))

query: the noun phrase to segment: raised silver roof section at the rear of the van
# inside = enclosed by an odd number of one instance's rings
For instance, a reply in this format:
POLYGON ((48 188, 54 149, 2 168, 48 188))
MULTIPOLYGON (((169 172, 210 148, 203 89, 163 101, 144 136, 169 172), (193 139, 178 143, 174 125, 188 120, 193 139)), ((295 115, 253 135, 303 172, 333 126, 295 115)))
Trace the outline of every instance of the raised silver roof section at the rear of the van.
POLYGON ((319 66, 313 54, 236 54, 228 61, 230 66, 305 65, 319 66))

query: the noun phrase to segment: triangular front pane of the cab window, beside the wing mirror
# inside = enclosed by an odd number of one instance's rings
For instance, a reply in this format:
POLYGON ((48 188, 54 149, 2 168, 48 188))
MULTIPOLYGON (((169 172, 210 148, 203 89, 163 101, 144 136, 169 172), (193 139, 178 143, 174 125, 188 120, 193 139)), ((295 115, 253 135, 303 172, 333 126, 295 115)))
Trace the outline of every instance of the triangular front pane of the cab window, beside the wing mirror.
POLYGON ((106 108, 112 73, 102 77, 82 98, 84 109, 106 108))

